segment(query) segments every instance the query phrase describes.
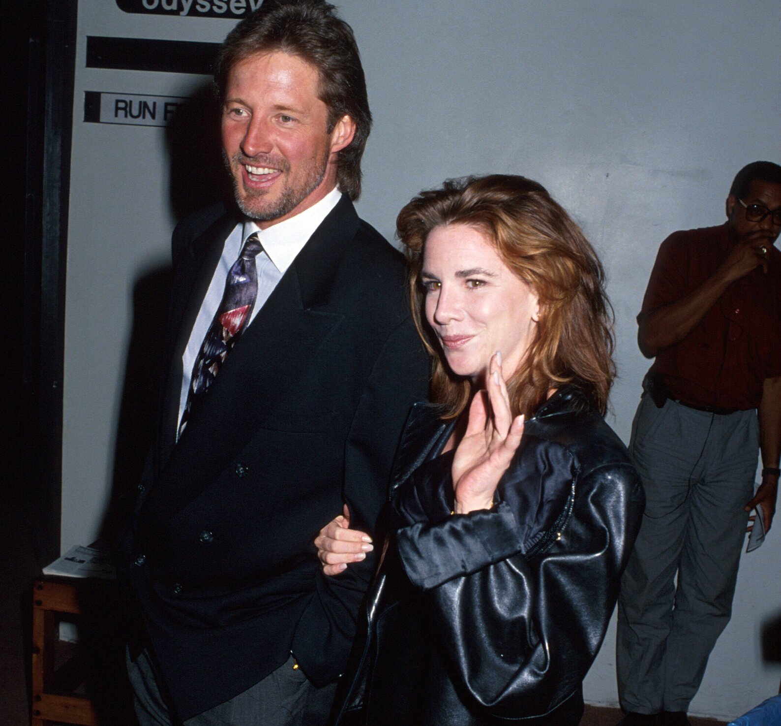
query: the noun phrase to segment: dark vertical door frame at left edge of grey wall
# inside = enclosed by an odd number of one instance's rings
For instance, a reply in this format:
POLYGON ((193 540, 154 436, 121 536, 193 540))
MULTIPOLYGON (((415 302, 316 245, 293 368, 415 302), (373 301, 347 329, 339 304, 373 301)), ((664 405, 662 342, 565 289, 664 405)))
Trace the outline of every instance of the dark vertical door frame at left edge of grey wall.
POLYGON ((77 0, 41 0, 28 21, 24 202, 23 442, 16 456, 41 566, 59 556, 62 378, 77 0))

